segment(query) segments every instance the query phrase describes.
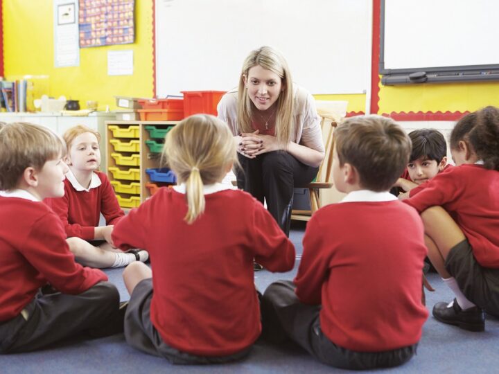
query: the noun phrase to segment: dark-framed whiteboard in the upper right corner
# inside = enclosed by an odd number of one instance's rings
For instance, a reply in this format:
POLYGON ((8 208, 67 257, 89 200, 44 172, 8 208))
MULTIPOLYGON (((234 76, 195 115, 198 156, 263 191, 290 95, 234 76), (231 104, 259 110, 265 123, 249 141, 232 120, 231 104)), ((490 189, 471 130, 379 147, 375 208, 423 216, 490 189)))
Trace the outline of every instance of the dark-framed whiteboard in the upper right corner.
POLYGON ((490 80, 499 68, 498 14, 499 1, 383 0, 380 73, 490 80))

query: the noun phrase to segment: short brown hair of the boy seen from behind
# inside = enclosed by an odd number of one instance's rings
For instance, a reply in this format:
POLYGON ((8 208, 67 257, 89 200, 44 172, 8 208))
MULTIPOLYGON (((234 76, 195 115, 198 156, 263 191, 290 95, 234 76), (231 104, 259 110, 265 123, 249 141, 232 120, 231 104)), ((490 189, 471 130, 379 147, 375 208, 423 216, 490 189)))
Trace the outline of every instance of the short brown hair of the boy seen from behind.
POLYGON ((409 162, 411 140, 392 118, 356 116, 335 130, 335 150, 340 166, 356 168, 360 186, 387 191, 409 162))

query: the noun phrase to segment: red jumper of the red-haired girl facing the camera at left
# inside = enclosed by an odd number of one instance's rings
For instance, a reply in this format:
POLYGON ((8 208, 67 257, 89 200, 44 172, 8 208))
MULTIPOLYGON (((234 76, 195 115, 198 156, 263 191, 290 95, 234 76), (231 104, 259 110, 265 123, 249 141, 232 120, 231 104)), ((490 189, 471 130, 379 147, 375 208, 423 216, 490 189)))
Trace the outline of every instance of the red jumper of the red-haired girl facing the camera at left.
POLYGON ((103 172, 95 173, 100 186, 78 191, 66 178, 64 196, 44 200, 62 220, 68 238, 76 236, 94 240, 100 213, 103 213, 106 224, 116 224, 125 215, 107 176, 103 172))

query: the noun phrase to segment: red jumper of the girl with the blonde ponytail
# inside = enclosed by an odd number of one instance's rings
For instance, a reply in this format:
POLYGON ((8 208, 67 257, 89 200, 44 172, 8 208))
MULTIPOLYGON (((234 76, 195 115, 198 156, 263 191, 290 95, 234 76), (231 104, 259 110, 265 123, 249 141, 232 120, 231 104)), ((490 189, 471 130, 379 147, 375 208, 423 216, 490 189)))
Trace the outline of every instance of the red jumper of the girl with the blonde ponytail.
POLYGON ((288 271, 295 247, 248 193, 204 197, 204 213, 186 224, 186 195, 160 188, 114 226, 112 240, 121 249, 149 252, 150 318, 165 343, 194 355, 225 356, 250 346, 261 332, 253 260, 288 271))

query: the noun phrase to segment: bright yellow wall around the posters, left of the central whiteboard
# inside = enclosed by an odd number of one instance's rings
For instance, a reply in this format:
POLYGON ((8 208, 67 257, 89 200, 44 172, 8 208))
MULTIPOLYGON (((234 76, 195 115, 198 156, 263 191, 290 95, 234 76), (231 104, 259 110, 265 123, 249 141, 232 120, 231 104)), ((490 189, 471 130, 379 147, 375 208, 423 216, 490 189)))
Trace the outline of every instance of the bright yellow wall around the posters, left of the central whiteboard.
MULTIPOLYGON (((3 59, 7 79, 48 75, 42 92, 97 100, 99 109, 116 109, 114 95, 152 97, 152 0, 135 1, 135 42, 80 49, 80 66, 55 68, 53 1, 3 0, 3 59), (35 5, 36 4, 36 5, 35 5), (133 75, 107 75, 107 51, 134 51, 133 75)), ((41 80, 40 80, 41 81, 41 80)), ((35 86, 37 82, 35 82, 35 86)), ((36 89, 36 87, 35 87, 36 89)))

